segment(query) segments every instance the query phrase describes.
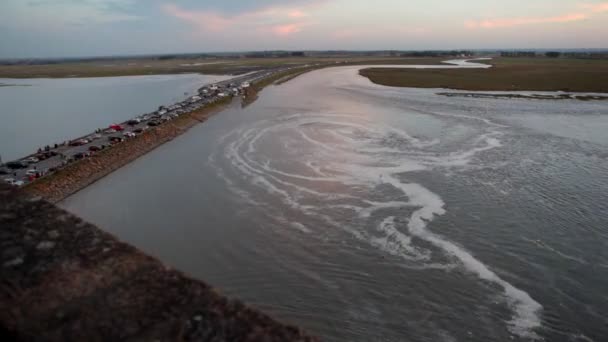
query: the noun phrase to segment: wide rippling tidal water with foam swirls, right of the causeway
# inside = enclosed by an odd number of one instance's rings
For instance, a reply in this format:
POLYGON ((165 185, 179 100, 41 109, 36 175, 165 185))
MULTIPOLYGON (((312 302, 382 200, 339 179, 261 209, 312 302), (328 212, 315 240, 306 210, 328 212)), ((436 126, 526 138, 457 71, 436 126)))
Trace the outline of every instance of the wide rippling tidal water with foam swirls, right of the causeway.
POLYGON ((608 105, 338 67, 62 205, 326 341, 606 341, 608 105))

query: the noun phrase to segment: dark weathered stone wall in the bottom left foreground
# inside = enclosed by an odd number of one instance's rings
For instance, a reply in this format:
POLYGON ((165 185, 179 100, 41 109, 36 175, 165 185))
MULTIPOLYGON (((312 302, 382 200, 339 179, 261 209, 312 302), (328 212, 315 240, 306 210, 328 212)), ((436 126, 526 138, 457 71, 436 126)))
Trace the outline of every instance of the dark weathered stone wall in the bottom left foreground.
POLYGON ((316 341, 1 183, 0 332, 22 341, 316 341))

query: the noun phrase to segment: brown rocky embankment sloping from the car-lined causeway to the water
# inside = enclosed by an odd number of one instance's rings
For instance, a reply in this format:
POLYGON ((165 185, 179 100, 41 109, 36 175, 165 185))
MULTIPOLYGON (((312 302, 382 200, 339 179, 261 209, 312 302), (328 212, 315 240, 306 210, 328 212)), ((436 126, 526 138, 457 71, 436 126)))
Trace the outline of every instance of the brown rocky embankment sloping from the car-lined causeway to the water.
POLYGON ((151 128, 135 138, 97 152, 91 157, 68 164, 57 172, 26 185, 23 189, 30 195, 41 196, 52 203, 60 202, 156 147, 174 139, 192 126, 207 120, 229 103, 227 98, 224 102, 218 102, 151 128))

